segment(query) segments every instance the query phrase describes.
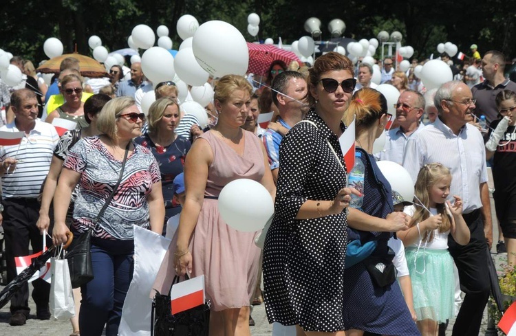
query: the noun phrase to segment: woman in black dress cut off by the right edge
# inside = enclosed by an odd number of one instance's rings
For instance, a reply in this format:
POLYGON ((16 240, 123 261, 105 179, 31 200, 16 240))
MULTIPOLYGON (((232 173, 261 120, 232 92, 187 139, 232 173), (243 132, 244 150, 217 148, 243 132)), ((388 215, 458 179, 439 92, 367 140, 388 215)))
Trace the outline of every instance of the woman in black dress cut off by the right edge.
POLYGON ((516 93, 500 91, 495 98, 499 119, 491 123, 486 160, 494 157, 496 216, 507 248, 507 264, 516 265, 516 93))

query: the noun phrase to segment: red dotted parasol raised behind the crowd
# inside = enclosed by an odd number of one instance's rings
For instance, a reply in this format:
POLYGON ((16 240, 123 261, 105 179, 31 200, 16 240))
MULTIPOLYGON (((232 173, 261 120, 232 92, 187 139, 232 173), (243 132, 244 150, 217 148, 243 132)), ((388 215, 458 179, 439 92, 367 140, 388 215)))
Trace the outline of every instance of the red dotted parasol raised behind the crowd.
POLYGON ((286 65, 289 65, 292 60, 295 60, 299 65, 303 65, 303 62, 296 56, 296 54, 289 52, 288 50, 280 49, 275 45, 247 43, 247 48, 249 50, 248 74, 266 76, 270 63, 275 60, 283 60, 286 65))

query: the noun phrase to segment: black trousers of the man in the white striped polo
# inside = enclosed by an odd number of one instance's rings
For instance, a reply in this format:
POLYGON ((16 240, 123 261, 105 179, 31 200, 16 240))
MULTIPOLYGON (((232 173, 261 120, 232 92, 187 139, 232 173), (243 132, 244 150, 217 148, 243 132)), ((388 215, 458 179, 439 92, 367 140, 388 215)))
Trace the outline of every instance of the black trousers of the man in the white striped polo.
MULTIPOLYGON (((43 249, 43 237, 36 227, 39 218, 39 203, 37 199, 3 199, 3 231, 6 239, 7 278, 10 282, 17 276, 15 256, 28 256, 29 243, 33 253, 43 249)), ((47 237, 47 245, 52 245, 52 239, 47 237)), ((46 309, 50 295, 50 284, 42 279, 32 282, 34 291, 32 298, 37 307, 46 309)), ((21 311, 28 315, 29 286, 25 284, 11 298, 11 313, 21 311)))

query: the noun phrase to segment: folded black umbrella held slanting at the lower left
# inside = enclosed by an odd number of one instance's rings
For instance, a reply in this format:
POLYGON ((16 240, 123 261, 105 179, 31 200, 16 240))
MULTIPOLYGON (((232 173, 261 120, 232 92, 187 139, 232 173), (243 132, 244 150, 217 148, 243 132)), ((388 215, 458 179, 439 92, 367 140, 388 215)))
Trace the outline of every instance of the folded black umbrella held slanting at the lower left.
MULTIPOLYGON (((72 243, 74 236, 72 232, 67 232, 68 241, 66 242, 64 249, 67 249, 69 245, 72 243)), ((30 278, 32 275, 36 273, 41 267, 45 266, 47 260, 50 259, 54 255, 56 246, 53 245, 49 249, 47 249, 43 254, 38 256, 37 258, 32 259, 30 266, 24 269, 21 273, 18 274, 11 282, 0 292, 0 309, 5 306, 12 295, 16 293, 30 278)))

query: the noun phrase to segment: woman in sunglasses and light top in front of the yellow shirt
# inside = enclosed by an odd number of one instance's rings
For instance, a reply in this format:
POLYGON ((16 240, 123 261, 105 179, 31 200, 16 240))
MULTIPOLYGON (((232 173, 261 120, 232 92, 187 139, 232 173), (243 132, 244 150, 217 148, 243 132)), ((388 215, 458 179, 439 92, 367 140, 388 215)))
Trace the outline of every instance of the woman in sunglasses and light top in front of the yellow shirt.
POLYGON ((52 124, 52 120, 56 117, 71 120, 76 122, 76 128, 85 128, 88 126, 84 117, 84 102, 83 98, 83 80, 74 74, 66 75, 60 83, 59 91, 65 98, 65 104, 52 111, 45 122, 52 124))

